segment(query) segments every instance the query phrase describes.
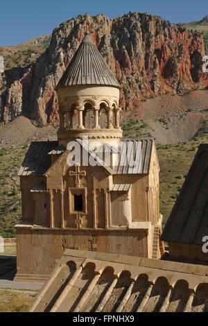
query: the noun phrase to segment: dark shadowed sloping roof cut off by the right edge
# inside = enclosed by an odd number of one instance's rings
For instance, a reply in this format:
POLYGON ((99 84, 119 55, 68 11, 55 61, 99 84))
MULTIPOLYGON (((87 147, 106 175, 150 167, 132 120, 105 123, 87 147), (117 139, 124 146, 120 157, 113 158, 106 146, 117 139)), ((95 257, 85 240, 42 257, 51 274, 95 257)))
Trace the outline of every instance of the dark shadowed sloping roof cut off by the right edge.
POLYGON ((201 144, 161 239, 202 244, 208 235, 208 144, 201 144))

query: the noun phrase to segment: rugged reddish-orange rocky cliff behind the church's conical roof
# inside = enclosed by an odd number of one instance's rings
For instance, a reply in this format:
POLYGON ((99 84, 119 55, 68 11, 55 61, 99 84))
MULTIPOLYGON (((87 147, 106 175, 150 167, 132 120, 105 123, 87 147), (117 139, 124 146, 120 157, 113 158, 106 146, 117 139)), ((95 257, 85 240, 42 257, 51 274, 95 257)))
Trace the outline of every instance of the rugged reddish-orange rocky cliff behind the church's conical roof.
POLYGON ((39 124, 58 124, 55 85, 85 31, 90 31, 121 83, 123 112, 136 110, 140 114, 146 98, 157 94, 184 95, 208 86, 208 74, 202 73, 205 44, 201 33, 146 13, 115 19, 79 15, 55 28, 46 51, 1 94, 1 121, 23 114, 39 124))

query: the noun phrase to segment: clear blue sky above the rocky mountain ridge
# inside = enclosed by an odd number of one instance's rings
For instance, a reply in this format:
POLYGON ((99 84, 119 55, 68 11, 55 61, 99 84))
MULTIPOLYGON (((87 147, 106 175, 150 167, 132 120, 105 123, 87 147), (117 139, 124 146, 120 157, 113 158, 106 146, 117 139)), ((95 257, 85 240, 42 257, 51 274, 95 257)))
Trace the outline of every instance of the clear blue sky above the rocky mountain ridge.
POLYGON ((207 0, 9 0, 0 4, 0 46, 15 45, 49 34, 64 20, 87 12, 110 18, 127 12, 148 12, 173 23, 208 15, 207 0))

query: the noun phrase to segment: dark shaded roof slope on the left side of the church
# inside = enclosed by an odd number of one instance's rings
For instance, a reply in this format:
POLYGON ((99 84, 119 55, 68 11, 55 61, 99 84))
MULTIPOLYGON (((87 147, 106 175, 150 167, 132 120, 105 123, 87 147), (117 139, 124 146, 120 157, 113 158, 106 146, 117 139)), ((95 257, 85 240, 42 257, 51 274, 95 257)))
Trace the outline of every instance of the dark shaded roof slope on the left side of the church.
POLYGON ((57 146, 58 141, 33 141, 18 175, 44 175, 51 164, 49 152, 57 146))

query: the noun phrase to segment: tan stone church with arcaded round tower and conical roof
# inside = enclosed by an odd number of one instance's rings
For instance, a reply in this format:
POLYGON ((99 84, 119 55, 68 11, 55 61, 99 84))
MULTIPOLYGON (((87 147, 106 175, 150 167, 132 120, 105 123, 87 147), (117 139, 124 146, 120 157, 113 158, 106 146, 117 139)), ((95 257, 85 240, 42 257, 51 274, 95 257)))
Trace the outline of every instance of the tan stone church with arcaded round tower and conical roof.
POLYGON ((46 280, 67 248, 163 255, 155 143, 122 139, 120 89, 86 34, 56 87, 58 139, 33 142, 19 171, 16 280, 46 280))

